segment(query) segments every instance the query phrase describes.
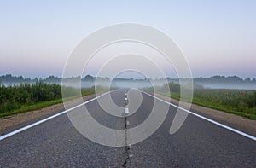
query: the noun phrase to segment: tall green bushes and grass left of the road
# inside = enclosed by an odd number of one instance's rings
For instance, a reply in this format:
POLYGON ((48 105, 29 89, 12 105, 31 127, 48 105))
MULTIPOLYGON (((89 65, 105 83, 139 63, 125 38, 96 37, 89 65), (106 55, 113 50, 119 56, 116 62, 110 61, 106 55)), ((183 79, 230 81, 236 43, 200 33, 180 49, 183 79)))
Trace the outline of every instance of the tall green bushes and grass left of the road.
MULTIPOLYGON (((77 90, 65 88, 67 99, 73 99, 77 90)), ((103 89, 102 89, 103 90, 103 89)), ((94 88, 82 89, 82 96, 94 94, 94 88)), ((15 113, 38 110, 43 107, 61 103, 61 85, 45 84, 39 81, 35 84, 19 84, 13 86, 0 86, 0 117, 15 113)))

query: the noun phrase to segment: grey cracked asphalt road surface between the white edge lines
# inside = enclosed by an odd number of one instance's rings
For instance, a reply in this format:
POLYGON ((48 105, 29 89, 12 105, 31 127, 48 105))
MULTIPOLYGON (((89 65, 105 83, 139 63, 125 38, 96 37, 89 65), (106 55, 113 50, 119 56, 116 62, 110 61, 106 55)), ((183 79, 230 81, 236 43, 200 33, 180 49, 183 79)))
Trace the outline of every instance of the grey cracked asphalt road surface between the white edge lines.
MULTIPOLYGON (((125 107, 125 91, 111 93, 119 107, 125 107)), ((126 117, 105 113, 96 100, 85 106, 101 125, 125 131, 148 118, 154 98, 146 94, 142 97, 136 113, 126 117)), ((134 100, 132 96, 129 99, 134 100)), ((166 106, 163 101, 159 103, 166 106)), ((81 111, 78 107, 69 113, 81 111)), ((189 114, 182 127, 170 135, 176 111, 169 106, 160 128, 131 147, 108 147, 90 141, 64 113, 1 140, 0 167, 256 167, 255 141, 195 115, 189 114)), ((127 137, 132 136, 125 131, 125 137, 119 138, 127 137)))

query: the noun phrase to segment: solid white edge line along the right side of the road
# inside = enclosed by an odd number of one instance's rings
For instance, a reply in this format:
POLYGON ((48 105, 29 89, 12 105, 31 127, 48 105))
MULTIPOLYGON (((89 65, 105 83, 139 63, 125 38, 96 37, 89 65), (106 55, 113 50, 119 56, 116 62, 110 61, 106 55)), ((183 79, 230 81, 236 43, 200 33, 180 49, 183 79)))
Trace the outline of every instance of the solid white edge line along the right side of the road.
MULTIPOLYGON (((150 95, 150 94, 148 94, 148 93, 146 93, 146 92, 143 92, 143 93, 146 94, 146 95, 148 95, 148 96, 152 96, 152 95, 150 95)), ((160 98, 158 98, 158 97, 156 97, 156 96, 152 96, 152 97, 158 99, 159 101, 163 101, 163 102, 165 102, 165 103, 167 103, 167 104, 170 104, 170 105, 172 105, 173 107, 177 107, 177 108, 179 108, 179 109, 181 109, 181 110, 183 110, 183 111, 185 111, 185 112, 191 113, 192 115, 195 115, 196 117, 199 117, 199 118, 201 118, 201 119, 205 119, 205 120, 211 122, 211 123, 214 124, 214 125, 218 125, 218 126, 223 127, 223 128, 225 128, 225 129, 227 129, 227 130, 231 130, 231 131, 235 132, 236 134, 239 134, 239 135, 241 135, 241 136, 246 136, 247 138, 252 139, 253 141, 256 141, 256 137, 255 137, 255 136, 248 135, 247 133, 244 133, 244 132, 242 132, 241 130, 236 130, 236 129, 234 129, 234 128, 231 128, 230 126, 223 125, 223 124, 221 124, 221 123, 218 123, 217 121, 214 121, 214 120, 212 120, 212 119, 208 119, 208 118, 203 117, 203 116, 201 116, 201 115, 199 115, 199 114, 197 114, 197 113, 191 112, 191 111, 189 111, 189 110, 187 110, 187 109, 185 109, 185 108, 183 108, 183 107, 179 107, 179 106, 177 106, 177 105, 175 105, 175 104, 172 104, 172 102, 164 101, 164 100, 162 100, 162 99, 160 99, 160 98)))

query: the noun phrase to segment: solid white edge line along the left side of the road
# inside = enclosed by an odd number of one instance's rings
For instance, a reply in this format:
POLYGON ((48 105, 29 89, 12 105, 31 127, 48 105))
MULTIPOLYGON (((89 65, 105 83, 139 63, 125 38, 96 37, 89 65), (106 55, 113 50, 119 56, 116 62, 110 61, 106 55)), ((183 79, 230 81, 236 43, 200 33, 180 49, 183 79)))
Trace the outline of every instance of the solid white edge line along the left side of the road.
POLYGON ((63 112, 61 112, 61 113, 56 113, 55 115, 52 115, 52 116, 49 116, 48 118, 39 120, 38 122, 35 122, 35 123, 31 124, 31 125, 26 125, 25 127, 22 127, 22 128, 20 128, 20 129, 18 129, 18 130, 14 130, 14 131, 12 131, 12 132, 6 134, 6 135, 0 136, 0 141, 3 140, 3 139, 5 139, 5 138, 7 138, 7 137, 9 137, 9 136, 14 136, 15 134, 18 134, 18 133, 20 133, 20 132, 23 131, 23 130, 27 130, 27 129, 32 128, 33 126, 40 125, 41 123, 44 123, 45 121, 48 121, 49 119, 54 119, 55 117, 58 117, 58 116, 62 115, 63 113, 67 113, 67 112, 69 112, 69 111, 72 111, 72 110, 75 109, 75 108, 81 107, 81 106, 83 106, 83 105, 89 103, 90 101, 95 101, 97 98, 100 98, 100 97, 102 97, 102 96, 105 96, 105 95, 107 95, 107 94, 110 93, 110 92, 111 92, 111 91, 108 91, 108 92, 102 94, 101 96, 94 97, 94 98, 90 99, 89 101, 85 101, 85 102, 83 102, 82 104, 79 104, 78 106, 71 107, 71 108, 69 108, 69 109, 67 109, 67 110, 65 110, 65 111, 63 111, 63 112))

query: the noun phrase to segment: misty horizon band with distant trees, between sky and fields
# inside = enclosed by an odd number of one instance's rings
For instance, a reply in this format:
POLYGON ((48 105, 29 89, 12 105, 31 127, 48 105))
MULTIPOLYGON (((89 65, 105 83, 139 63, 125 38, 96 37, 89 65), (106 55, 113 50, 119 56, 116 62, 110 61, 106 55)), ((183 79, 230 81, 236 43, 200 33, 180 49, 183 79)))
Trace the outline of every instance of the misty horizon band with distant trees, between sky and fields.
MULTIPOLYGON (((143 89, 152 86, 162 86, 168 82, 175 84, 187 84, 189 82, 186 78, 96 78, 86 75, 84 78, 67 78, 67 86, 73 86, 73 80, 81 81, 82 88, 91 88, 94 85, 101 85, 102 87, 112 88, 137 88, 143 89)), ((194 78, 195 89, 234 89, 234 90, 256 90, 255 78, 239 78, 237 76, 213 76, 210 78, 194 78)), ((12 75, 0 76, 0 84, 5 86, 17 85, 20 83, 34 84, 38 81, 43 81, 47 84, 61 84, 62 78, 49 76, 48 78, 23 78, 12 75)))

